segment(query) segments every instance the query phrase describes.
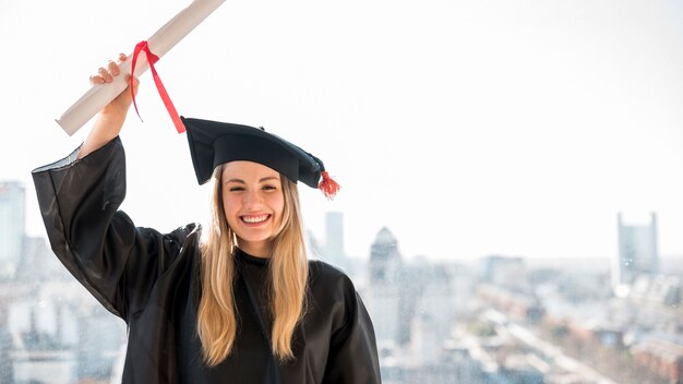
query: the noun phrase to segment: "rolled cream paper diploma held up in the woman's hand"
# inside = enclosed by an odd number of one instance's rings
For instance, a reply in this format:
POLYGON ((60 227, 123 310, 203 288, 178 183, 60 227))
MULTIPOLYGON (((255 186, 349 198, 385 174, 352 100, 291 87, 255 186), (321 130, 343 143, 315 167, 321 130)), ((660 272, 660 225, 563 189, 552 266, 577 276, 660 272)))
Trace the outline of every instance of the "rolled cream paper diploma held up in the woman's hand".
MULTIPOLYGON (((225 0, 192 1, 147 39, 149 50, 160 59, 224 2, 225 0)), ((131 61, 129 59, 121 63, 121 73, 131 72, 131 61)), ((134 75, 140 76, 147 69, 149 69, 147 56, 141 52, 135 63, 134 75)), ((125 76, 116 76, 111 83, 94 84, 59 119, 56 119, 57 123, 69 135, 73 135, 127 86, 125 76)))

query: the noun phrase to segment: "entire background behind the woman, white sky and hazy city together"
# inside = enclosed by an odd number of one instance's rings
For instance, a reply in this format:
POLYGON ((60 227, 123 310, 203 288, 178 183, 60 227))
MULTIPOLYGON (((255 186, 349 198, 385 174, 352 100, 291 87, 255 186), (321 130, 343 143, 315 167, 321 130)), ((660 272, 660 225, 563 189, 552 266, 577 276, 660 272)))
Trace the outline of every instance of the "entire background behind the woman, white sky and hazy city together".
MULTIPOLYGON (((123 323, 51 256, 31 170, 84 140, 53 120, 88 75, 187 4, 0 0, 1 383, 118 375, 123 323)), ((342 183, 301 189, 304 224, 386 383, 563 384, 681 382, 681 68, 676 0, 226 1, 157 65, 181 115, 263 125, 342 183)), ((206 221, 141 83, 122 208, 206 221)))

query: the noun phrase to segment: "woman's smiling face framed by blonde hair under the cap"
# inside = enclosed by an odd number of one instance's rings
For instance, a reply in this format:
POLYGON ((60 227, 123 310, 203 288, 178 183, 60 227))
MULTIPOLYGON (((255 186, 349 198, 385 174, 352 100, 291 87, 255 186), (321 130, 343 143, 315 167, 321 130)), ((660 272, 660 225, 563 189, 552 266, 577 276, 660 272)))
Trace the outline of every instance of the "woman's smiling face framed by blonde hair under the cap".
POLYGON ((223 166, 221 183, 223 209, 239 248, 269 256, 285 208, 279 172, 253 161, 230 161, 223 166))

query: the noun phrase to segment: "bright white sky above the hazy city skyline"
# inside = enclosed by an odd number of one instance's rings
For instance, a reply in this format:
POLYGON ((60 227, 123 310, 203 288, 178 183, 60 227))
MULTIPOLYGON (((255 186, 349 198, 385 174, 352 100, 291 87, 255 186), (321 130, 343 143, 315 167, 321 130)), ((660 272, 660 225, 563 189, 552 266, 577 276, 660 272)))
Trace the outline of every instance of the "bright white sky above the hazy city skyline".
MULTIPOLYGON (((0 179, 26 183, 31 235, 31 170, 87 131, 55 119, 188 4, 0 0, 0 179)), ((611 256, 620 211, 657 212, 660 253, 683 255, 678 1, 226 1, 157 69, 181 115, 321 157, 343 190, 302 188, 304 219, 322 237, 344 212, 350 255, 386 226, 407 257, 611 256)), ((160 230, 204 220, 208 187, 141 81, 123 208, 160 230)))

